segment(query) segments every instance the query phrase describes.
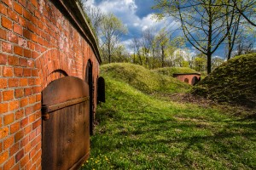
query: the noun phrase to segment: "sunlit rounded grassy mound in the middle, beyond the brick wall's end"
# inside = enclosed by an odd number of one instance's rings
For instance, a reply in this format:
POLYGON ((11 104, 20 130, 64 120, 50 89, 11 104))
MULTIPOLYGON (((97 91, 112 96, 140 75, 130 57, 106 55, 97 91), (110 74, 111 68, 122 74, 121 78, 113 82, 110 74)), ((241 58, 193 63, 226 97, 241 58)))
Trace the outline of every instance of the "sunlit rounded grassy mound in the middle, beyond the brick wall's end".
POLYGON ((113 63, 102 65, 101 72, 104 77, 126 82, 147 94, 155 92, 181 93, 190 88, 187 83, 150 71, 141 65, 113 63))

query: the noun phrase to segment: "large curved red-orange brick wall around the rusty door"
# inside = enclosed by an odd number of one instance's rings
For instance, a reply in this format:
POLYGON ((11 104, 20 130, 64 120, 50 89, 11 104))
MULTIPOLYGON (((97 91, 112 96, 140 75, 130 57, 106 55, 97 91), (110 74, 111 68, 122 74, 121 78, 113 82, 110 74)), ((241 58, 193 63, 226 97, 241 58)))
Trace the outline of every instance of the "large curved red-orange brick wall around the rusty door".
POLYGON ((2 0, 0 20, 0 170, 40 169, 42 90, 65 74, 84 79, 88 59, 97 76, 99 63, 48 0, 2 0))

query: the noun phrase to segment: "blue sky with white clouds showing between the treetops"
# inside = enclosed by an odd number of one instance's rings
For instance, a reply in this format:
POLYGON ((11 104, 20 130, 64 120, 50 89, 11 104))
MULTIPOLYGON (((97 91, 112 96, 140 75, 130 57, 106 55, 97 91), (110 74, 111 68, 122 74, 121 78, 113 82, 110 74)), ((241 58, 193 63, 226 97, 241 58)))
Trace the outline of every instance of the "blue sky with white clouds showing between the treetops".
MULTIPOLYGON (((154 28, 156 31, 166 26, 166 31, 172 33, 172 37, 182 35, 180 26, 171 17, 157 21, 153 18, 156 11, 152 9, 154 0, 87 0, 87 4, 101 8, 104 13, 113 13, 123 24, 127 26, 128 33, 122 37, 122 43, 129 48, 133 37, 140 37, 142 31, 147 28, 154 28)), ((188 48, 192 53, 195 49, 188 43, 188 48)), ((218 50, 215 55, 223 56, 222 50, 218 50)))

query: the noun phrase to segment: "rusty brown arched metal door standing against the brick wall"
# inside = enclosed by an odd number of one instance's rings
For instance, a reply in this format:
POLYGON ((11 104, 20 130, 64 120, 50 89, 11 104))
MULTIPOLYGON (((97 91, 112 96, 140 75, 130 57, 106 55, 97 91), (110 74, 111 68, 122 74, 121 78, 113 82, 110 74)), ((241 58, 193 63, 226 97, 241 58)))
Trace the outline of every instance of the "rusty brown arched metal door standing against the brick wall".
POLYGON ((89 86, 64 77, 51 82, 42 98, 42 168, 77 169, 90 154, 89 86))

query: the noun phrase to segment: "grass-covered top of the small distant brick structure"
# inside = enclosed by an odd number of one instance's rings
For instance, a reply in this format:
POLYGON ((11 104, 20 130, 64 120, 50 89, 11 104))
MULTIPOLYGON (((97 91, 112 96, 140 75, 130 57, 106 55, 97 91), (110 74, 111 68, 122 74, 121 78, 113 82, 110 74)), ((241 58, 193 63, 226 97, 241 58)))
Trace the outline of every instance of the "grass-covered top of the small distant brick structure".
POLYGON ((165 67, 153 70, 154 72, 172 77, 175 73, 198 73, 189 67, 165 67))

